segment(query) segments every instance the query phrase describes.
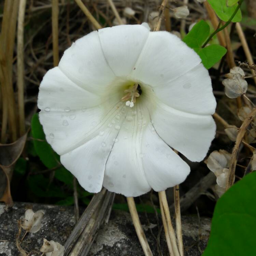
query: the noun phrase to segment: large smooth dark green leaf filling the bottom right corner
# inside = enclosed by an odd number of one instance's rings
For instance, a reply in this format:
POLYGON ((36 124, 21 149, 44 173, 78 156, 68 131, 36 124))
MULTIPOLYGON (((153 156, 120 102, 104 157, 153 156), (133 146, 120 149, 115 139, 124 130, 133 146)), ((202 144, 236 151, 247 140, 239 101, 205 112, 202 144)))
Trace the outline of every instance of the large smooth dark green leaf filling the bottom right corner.
POLYGON ((217 202, 203 256, 256 255, 256 172, 233 185, 217 202))

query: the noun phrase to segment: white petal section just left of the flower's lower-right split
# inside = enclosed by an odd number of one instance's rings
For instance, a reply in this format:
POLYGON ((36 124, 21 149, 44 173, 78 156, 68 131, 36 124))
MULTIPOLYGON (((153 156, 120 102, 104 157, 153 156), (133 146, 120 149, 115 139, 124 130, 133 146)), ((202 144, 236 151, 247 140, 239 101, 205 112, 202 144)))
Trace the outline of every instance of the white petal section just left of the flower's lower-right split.
POLYGON ((187 163, 159 138, 151 124, 143 135, 142 154, 147 181, 155 191, 180 184, 189 174, 187 163))

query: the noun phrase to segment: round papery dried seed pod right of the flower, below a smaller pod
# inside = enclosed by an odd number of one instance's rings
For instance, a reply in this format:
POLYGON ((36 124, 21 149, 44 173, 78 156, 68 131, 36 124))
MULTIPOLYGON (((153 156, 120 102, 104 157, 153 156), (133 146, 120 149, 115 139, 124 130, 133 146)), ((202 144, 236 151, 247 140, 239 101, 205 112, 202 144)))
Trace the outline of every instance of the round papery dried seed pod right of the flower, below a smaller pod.
POLYGON ((231 98, 237 98, 246 93, 248 84, 241 74, 234 74, 232 79, 224 79, 222 84, 225 86, 225 94, 231 98))

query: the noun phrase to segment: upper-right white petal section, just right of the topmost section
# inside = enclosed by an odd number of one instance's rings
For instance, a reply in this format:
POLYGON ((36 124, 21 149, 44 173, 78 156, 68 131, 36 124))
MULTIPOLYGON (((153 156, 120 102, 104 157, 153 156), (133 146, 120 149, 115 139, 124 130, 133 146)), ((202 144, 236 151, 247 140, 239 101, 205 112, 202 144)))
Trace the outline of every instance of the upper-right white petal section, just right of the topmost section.
POLYGON ((152 87, 163 86, 201 62, 200 57, 176 35, 150 32, 131 78, 152 87))

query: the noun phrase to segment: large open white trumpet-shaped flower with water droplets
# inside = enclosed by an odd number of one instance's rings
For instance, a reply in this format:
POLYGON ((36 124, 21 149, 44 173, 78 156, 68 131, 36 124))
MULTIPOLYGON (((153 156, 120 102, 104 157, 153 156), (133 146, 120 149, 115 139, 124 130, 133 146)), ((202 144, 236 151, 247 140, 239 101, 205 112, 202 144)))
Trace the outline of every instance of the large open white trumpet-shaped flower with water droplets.
POLYGON ((38 96, 46 140, 82 187, 125 196, 183 182, 215 135, 211 79, 175 35, 143 25, 94 31, 49 70, 38 96), (122 100, 123 99, 123 100, 122 100))

